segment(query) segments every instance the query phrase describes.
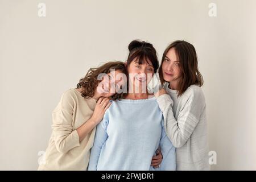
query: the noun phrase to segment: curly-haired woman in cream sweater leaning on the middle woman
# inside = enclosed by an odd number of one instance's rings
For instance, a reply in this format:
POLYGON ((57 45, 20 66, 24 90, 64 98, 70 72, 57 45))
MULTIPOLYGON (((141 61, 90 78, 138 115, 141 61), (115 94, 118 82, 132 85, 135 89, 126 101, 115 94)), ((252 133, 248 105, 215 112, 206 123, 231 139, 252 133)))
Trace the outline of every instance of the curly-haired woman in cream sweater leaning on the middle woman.
MULTIPOLYGON (((96 126, 109 108, 110 99, 116 100, 124 95, 119 93, 119 90, 125 89, 122 86, 126 86, 123 74, 126 76, 124 63, 108 62, 89 69, 77 88, 63 93, 52 112, 52 135, 45 161, 38 170, 87 169, 96 126)), ((153 159, 160 163, 162 155, 153 159)))

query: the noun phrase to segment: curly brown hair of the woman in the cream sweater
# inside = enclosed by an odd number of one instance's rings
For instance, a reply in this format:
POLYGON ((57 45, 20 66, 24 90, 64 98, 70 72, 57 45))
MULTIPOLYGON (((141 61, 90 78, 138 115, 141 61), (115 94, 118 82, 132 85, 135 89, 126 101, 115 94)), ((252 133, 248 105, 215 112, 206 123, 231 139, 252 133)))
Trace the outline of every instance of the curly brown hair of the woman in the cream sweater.
MULTIPOLYGON (((126 67, 122 61, 109 61, 98 68, 90 68, 85 77, 81 78, 79 83, 76 85, 77 88, 82 88, 82 97, 92 98, 98 84, 101 82, 101 80, 98 80, 98 75, 100 75, 100 73, 108 74, 111 71, 110 69, 114 69, 115 71, 119 70, 127 76, 126 67)), ((115 93, 111 99, 121 99, 124 96, 124 93, 115 93)))

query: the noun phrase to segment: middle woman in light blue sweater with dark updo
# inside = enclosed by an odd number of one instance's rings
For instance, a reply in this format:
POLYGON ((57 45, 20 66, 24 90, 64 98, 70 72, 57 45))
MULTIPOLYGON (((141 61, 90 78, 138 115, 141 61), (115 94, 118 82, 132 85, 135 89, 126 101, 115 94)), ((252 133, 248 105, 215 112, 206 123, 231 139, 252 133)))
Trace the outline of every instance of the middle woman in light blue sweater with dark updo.
POLYGON ((97 126, 88 170, 175 170, 175 148, 164 131, 162 112, 147 93, 147 83, 159 67, 155 48, 134 40, 129 51, 129 93, 112 102, 97 126), (158 147, 163 160, 153 168, 158 147))

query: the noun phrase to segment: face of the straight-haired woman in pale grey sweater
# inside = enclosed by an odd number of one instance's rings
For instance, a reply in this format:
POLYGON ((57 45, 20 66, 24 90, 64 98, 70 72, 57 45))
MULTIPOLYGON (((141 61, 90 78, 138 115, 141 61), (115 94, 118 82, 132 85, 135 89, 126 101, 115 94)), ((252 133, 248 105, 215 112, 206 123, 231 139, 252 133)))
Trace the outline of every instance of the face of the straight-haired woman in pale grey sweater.
POLYGON ((171 48, 166 57, 164 57, 162 64, 163 78, 168 82, 177 82, 180 80, 180 62, 177 60, 174 48, 171 48))

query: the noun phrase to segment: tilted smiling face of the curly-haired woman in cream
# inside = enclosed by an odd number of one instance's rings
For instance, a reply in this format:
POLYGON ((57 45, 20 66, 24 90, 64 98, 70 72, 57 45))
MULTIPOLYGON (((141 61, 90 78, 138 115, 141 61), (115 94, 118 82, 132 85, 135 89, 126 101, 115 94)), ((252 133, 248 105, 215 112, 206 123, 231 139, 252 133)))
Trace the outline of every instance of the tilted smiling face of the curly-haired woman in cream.
POLYGON ((126 84, 123 76, 125 75, 120 70, 104 74, 97 86, 97 92, 100 93, 100 97, 111 97, 117 93, 122 88, 122 85, 126 84))

